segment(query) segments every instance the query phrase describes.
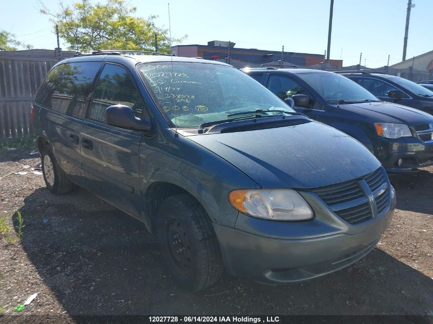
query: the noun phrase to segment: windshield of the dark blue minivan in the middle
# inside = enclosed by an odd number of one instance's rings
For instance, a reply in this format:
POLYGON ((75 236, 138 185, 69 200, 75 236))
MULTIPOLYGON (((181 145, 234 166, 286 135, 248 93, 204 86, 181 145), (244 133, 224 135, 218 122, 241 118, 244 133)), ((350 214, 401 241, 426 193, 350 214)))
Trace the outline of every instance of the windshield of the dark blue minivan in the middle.
POLYGON ((346 77, 335 73, 298 73, 329 103, 378 101, 374 95, 346 77))

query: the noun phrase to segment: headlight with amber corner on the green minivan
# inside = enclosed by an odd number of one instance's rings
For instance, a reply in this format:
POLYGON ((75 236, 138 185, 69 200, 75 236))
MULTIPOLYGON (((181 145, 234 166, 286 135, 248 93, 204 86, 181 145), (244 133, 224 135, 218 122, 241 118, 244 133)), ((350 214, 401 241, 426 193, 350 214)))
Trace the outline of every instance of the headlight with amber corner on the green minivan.
POLYGON ((305 199, 292 189, 240 189, 229 193, 234 208, 266 220, 301 221, 313 217, 305 199))

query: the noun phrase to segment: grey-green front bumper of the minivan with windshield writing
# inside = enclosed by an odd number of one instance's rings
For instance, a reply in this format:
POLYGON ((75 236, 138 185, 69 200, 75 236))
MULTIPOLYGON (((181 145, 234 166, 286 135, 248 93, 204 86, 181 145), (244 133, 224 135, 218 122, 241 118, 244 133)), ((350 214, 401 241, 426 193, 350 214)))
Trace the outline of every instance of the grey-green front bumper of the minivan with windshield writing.
MULTIPOLYGON (((326 235, 325 231, 332 232, 336 227, 326 228, 326 225, 313 221, 297 222, 298 224, 293 222, 293 226, 300 225, 305 229, 310 226, 310 233, 316 232, 320 235, 317 237, 281 238, 282 223, 285 223, 283 226, 291 227, 290 222, 257 219, 254 219, 255 225, 250 232, 245 231, 248 221, 244 222, 242 219, 237 227, 242 227, 243 230, 217 224, 214 224, 214 229, 230 274, 251 277, 267 284, 292 283, 331 273, 360 260, 380 240, 391 222, 394 208, 395 201, 391 202, 390 209, 381 217, 362 225, 353 226, 347 223, 344 229, 343 226, 339 232, 329 235, 326 235), (274 226, 275 231, 272 231, 270 227, 274 226), (315 227, 324 227, 325 231, 315 227), (267 236, 258 234, 258 228, 263 228, 267 236), (270 232, 276 233, 275 236, 270 237, 270 232)), ((239 217, 252 219, 241 214, 239 217)), ((291 232, 292 237, 300 236, 297 230, 288 232, 291 232)))

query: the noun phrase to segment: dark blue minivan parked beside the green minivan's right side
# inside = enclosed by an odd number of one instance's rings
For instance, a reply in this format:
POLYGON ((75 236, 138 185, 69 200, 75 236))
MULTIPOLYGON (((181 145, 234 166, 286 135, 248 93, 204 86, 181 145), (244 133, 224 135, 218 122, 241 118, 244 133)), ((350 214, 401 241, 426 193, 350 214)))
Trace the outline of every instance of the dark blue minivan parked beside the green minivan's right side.
POLYGON ((359 140, 389 172, 414 171, 433 164, 433 116, 429 114, 382 102, 360 85, 332 72, 244 72, 282 100, 292 98, 296 111, 359 140))

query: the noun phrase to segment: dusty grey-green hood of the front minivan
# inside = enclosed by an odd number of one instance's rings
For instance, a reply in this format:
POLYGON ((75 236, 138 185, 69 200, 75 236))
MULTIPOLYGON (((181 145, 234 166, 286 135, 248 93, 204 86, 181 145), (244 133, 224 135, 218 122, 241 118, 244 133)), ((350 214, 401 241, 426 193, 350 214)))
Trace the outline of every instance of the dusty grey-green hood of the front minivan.
POLYGON ((188 138, 266 188, 321 187, 353 180, 380 166, 357 140, 319 122, 188 138))

